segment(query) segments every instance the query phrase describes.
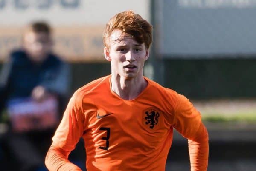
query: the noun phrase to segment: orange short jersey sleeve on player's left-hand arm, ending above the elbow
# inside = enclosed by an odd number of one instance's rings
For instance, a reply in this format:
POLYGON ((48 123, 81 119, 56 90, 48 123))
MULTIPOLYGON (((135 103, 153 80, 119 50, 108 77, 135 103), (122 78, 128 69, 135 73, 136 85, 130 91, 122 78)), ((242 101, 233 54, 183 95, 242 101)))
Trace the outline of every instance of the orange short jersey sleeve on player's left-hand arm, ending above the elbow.
POLYGON ((52 137, 53 145, 72 151, 84 132, 82 97, 76 92, 70 99, 61 123, 52 137))

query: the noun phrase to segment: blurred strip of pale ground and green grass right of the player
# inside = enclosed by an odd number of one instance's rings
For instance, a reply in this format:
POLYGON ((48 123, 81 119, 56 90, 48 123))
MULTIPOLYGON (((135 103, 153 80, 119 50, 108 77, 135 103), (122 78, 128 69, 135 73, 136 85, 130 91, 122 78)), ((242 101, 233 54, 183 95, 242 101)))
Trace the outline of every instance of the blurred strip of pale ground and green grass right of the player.
POLYGON ((256 99, 193 101, 202 119, 212 123, 256 123, 256 99))

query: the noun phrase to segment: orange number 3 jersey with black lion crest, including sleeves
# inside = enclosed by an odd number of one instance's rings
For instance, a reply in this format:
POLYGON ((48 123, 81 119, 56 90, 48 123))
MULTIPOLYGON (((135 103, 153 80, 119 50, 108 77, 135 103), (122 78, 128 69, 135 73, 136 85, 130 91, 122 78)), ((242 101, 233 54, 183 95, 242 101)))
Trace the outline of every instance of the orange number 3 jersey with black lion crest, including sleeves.
MULTIPOLYGON (((69 153, 83 137, 88 171, 164 171, 175 128, 190 139, 192 171, 206 171, 208 134, 186 97, 145 77, 145 90, 134 100, 123 100, 111 91, 110 77, 75 92, 52 138, 52 149, 69 153)), ((47 154, 47 167, 67 158, 67 153, 52 151, 47 154)))

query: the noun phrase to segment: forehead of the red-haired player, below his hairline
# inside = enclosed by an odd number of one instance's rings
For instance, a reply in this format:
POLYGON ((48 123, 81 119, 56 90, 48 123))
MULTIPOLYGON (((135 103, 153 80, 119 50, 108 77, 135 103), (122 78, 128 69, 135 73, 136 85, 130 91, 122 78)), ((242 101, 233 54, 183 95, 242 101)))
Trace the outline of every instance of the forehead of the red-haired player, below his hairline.
POLYGON ((109 37, 109 43, 110 46, 122 46, 122 45, 127 45, 127 44, 134 44, 134 45, 142 45, 140 43, 137 43, 136 40, 130 35, 127 34, 121 30, 113 30, 110 37, 109 37))

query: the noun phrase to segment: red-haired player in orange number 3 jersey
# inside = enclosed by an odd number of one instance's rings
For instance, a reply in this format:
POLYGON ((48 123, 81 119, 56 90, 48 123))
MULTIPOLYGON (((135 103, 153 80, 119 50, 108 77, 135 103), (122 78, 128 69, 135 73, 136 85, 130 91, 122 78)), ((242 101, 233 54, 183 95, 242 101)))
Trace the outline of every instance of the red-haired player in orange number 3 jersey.
POLYGON ((80 171, 68 160, 80 137, 88 171, 164 171, 173 128, 189 139, 192 171, 206 171, 208 134, 186 97, 143 77, 152 27, 132 11, 116 14, 104 31, 111 75, 75 92, 52 138, 50 171, 80 171))

